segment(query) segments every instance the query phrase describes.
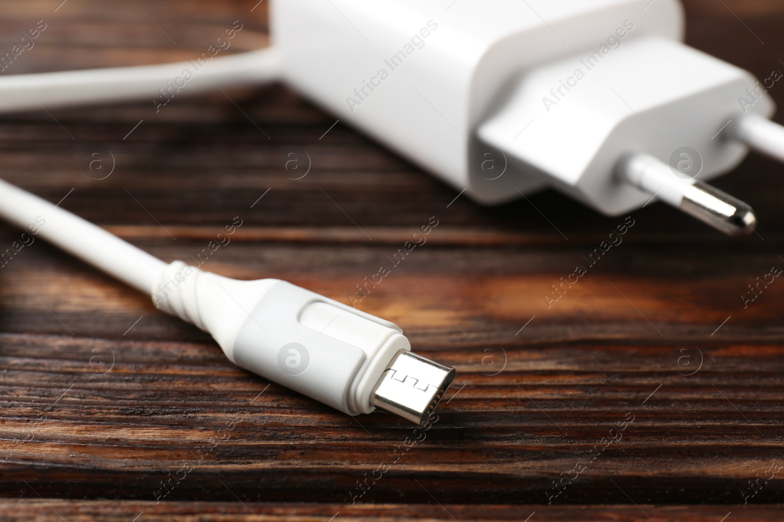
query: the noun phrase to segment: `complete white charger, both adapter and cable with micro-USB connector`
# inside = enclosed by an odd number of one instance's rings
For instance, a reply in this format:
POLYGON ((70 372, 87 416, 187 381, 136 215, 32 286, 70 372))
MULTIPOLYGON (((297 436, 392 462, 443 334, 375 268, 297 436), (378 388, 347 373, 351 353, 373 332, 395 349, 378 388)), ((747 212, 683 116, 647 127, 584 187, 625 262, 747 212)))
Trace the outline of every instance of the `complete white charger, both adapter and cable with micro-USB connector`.
MULTIPOLYGON (((158 110, 181 92, 280 79, 483 204, 554 187, 615 216, 659 199, 731 235, 749 233, 756 217, 705 180, 734 169, 748 147, 784 161, 764 86, 683 45, 677 0, 274 0, 271 9, 269 49, 5 76, 0 111, 145 99, 158 110)), ((421 424, 454 378, 411 353, 394 324, 285 281, 167 265, 5 182, 0 216, 20 227, 45 219, 38 234, 150 292, 231 361, 351 415, 378 406, 421 424)))

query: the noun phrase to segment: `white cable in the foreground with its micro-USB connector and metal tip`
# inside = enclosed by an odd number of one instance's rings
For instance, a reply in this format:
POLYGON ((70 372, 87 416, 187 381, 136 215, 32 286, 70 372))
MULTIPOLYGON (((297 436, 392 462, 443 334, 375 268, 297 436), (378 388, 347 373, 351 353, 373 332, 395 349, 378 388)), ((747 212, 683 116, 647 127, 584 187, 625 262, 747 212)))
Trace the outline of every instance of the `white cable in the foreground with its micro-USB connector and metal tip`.
POLYGON ((286 281, 166 264, 2 180, 0 216, 150 294, 159 310, 209 332, 241 368, 349 415, 379 407, 421 425, 455 378, 454 368, 412 353, 389 321, 286 281))

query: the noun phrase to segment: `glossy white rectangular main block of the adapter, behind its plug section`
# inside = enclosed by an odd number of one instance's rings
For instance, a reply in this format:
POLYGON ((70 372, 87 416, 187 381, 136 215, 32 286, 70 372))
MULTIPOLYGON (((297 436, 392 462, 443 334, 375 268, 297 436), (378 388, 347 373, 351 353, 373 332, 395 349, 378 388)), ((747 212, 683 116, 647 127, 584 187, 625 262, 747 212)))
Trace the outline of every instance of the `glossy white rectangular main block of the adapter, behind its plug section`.
POLYGON ((684 34, 677 0, 285 0, 270 9, 286 82, 485 204, 546 183, 511 161, 501 177, 501 167, 482 168, 498 153, 475 132, 517 78, 600 45, 624 20, 633 38, 684 34))

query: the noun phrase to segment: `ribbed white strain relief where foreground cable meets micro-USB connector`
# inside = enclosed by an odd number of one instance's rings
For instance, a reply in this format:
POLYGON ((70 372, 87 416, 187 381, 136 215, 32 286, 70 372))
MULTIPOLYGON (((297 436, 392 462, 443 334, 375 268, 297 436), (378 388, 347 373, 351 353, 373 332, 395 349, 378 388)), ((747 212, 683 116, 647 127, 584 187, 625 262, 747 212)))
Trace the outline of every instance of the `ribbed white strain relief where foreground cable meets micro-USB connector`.
POLYGON ((206 332, 196 300, 196 286, 201 274, 201 270, 182 261, 169 263, 155 278, 151 295, 155 308, 195 324, 206 332))

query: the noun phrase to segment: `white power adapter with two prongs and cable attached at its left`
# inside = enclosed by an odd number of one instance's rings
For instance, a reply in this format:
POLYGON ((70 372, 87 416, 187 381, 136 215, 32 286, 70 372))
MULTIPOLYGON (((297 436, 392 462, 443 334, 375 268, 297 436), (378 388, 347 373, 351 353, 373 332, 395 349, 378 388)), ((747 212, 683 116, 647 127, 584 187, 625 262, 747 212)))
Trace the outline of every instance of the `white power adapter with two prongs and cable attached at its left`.
POLYGON ((617 216, 659 199, 732 235, 756 217, 705 180, 748 147, 784 161, 764 85, 683 45, 677 0, 270 9, 269 49, 8 76, 0 111, 145 98, 159 107, 180 92, 279 79, 480 203, 553 187, 617 216))

